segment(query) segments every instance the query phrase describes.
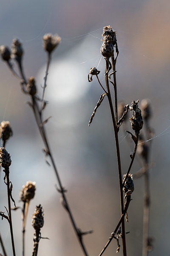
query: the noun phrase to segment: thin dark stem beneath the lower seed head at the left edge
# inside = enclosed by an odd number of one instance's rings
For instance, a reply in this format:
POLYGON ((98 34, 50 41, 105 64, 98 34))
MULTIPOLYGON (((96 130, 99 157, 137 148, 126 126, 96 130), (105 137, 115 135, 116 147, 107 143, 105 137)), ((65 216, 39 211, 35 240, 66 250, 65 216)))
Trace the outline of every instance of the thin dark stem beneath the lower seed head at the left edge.
POLYGON ((14 236, 13 236, 13 228, 12 228, 12 218, 11 218, 11 198, 10 198, 10 188, 9 188, 9 169, 5 169, 6 174, 6 184, 7 184, 7 194, 8 194, 8 222, 10 226, 11 232, 11 242, 12 242, 12 250, 13 256, 15 256, 15 246, 14 246, 14 236))

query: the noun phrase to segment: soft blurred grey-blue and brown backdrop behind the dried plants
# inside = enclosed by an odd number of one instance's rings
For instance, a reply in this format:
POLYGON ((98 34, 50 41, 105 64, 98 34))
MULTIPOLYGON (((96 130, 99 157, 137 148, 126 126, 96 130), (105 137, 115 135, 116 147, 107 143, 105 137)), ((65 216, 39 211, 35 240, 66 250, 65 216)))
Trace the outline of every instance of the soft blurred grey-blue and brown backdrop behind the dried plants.
MULTIPOLYGON (((150 256, 169 255, 170 229, 170 2, 169 0, 6 0, 0 1, 0 45, 11 46, 14 38, 24 48, 26 77, 35 76, 42 96, 46 53, 42 49, 45 33, 58 33, 61 44, 53 53, 45 99, 49 102, 44 118, 48 139, 77 226, 94 230, 84 237, 89 256, 99 255, 120 218, 119 180, 111 114, 107 99, 97 110, 90 127, 91 114, 103 93, 95 77, 88 83, 91 67, 100 70, 104 85, 105 61, 100 47, 104 26, 117 32, 119 57, 116 64, 118 100, 131 104, 151 100, 150 125, 155 135, 150 161, 150 224, 154 238, 150 256)), ((17 70, 17 67, 15 65, 17 70)), ((113 92, 113 90, 112 90, 113 92)), ((43 143, 31 108, 20 84, 0 61, 0 120, 8 120, 13 137, 6 145, 11 154, 10 180, 17 206, 19 192, 27 180, 36 181, 36 195, 30 203, 26 226, 26 256, 33 248, 31 215, 42 204, 45 224, 41 230, 39 255, 83 255, 67 212, 59 203, 56 177, 44 161, 43 143)), ((131 114, 131 113, 130 113, 131 114)), ((129 115, 130 117, 130 115, 129 115)), ((127 172, 133 142, 122 126, 119 143, 122 172, 127 172)), ((131 173, 142 167, 139 156, 131 173)), ((7 207, 6 185, 0 174, 0 211, 7 207)), ((134 180, 135 190, 128 209, 127 255, 142 255, 143 178, 134 180)), ((21 255, 21 214, 13 212, 16 254, 21 255)), ((0 233, 8 256, 12 255, 8 223, 0 221, 0 233)), ((112 241, 105 256, 116 255, 112 241)), ((1 248, 0 248, 1 250, 1 248)), ((119 252, 122 255, 122 246, 119 252)))

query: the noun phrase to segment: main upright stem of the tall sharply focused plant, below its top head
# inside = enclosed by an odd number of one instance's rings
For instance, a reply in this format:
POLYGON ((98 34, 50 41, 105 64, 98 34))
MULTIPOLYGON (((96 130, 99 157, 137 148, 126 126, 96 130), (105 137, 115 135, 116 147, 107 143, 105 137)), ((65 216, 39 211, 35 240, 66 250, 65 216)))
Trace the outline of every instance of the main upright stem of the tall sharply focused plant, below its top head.
MULTIPOLYGON (((113 104, 111 100, 111 92, 109 88, 109 81, 108 81, 108 68, 109 64, 108 61, 106 61, 105 64, 105 82, 106 82, 106 87, 108 91, 108 101, 109 101, 109 106, 111 110, 111 117, 112 117, 112 122, 113 122, 113 128, 114 128, 114 134, 115 134, 115 142, 116 142, 116 154, 117 154, 117 164, 118 164, 118 172, 119 172, 119 188, 120 188, 120 204, 121 204, 121 214, 124 212, 124 204, 123 204, 123 187, 122 187, 122 170, 121 170, 121 161, 120 161, 120 151, 119 151, 119 140, 118 140, 118 132, 117 132, 117 125, 114 117, 114 111, 113 111, 113 104)), ((126 241, 125 241, 125 220, 124 218, 122 219, 122 247, 123 247, 123 255, 127 256, 126 253, 126 241)))

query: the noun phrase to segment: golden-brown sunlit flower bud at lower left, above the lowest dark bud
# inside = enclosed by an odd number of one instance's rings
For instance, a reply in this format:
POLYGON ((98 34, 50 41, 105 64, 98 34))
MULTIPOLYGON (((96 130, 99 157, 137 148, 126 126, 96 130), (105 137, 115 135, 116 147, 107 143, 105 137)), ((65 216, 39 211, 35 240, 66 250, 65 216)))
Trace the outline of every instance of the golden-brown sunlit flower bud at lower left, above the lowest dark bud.
POLYGON ((20 200, 23 202, 29 202, 34 198, 35 190, 35 182, 27 181, 20 191, 20 200))

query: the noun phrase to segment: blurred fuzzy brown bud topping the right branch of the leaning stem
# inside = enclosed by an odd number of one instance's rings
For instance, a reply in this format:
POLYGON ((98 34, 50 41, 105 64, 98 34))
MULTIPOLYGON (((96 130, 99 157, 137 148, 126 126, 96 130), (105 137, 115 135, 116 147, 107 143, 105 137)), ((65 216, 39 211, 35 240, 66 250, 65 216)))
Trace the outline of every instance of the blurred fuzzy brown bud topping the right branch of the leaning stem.
POLYGON ((51 53, 60 43, 61 38, 58 34, 45 34, 42 38, 42 46, 45 51, 51 53))

